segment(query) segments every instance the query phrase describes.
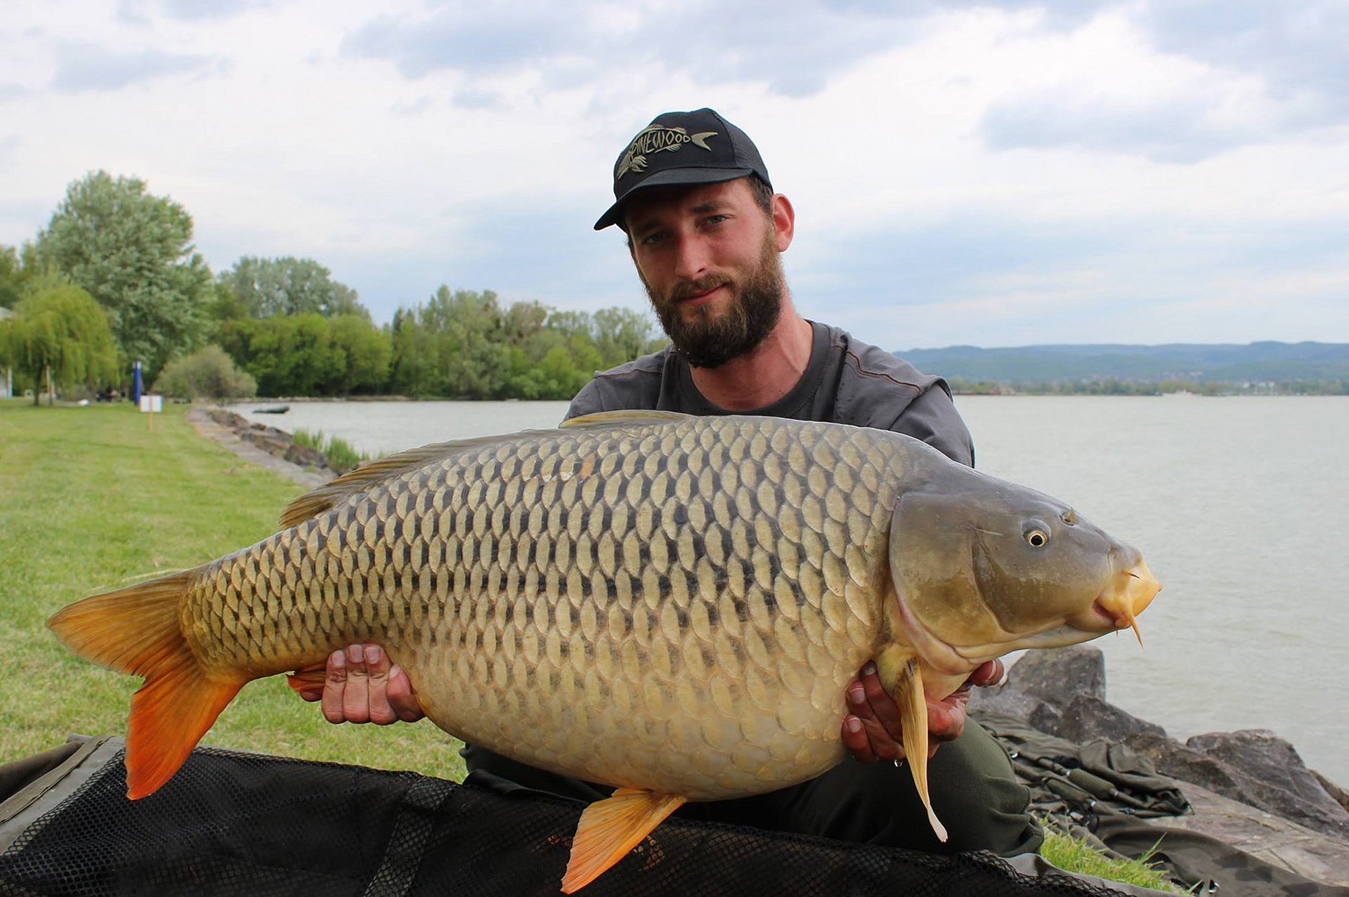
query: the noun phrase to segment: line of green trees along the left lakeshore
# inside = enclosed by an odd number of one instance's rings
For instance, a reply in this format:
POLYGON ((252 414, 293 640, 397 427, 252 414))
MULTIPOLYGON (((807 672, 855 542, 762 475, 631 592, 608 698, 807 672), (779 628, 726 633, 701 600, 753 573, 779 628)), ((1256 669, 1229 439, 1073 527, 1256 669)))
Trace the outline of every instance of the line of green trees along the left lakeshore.
POLYGON ((0 245, 0 378, 11 370, 35 402, 125 391, 132 361, 183 397, 565 399, 661 344, 631 309, 448 286, 376 325, 313 259, 244 256, 213 275, 192 233, 186 209, 139 178, 71 183, 32 241, 0 245))

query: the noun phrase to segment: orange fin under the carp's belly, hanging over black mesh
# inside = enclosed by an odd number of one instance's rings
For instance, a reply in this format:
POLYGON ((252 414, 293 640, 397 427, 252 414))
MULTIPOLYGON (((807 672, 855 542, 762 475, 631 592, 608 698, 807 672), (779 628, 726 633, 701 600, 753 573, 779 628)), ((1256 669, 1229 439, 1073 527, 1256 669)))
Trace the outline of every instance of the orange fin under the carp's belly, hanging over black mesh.
POLYGON ((595 881, 683 803, 679 794, 619 788, 612 797, 587 807, 576 826, 563 893, 571 894, 595 881))

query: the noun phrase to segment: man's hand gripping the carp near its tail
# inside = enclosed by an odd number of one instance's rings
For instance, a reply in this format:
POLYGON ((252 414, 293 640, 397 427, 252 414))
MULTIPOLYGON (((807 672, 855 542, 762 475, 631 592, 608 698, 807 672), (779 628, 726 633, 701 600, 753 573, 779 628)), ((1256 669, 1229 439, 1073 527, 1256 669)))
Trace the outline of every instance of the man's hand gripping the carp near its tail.
POLYGON ((329 723, 413 723, 425 716, 407 673, 389 665, 379 645, 352 645, 328 657, 322 691, 299 692, 306 701, 322 701, 329 723))

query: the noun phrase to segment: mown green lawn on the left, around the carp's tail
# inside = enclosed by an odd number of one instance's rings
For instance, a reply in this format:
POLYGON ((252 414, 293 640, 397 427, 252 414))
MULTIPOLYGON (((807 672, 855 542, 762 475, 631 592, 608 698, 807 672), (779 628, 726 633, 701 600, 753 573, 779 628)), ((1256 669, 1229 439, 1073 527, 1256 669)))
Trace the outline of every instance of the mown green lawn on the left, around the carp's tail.
MULTIPOLYGON (((0 762, 70 732, 124 735, 140 680, 76 658, 46 627, 70 602, 196 567, 270 536, 302 490, 197 436, 183 406, 0 399, 0 762)), ((202 743, 463 777, 428 722, 329 726, 282 677, 247 685, 202 743)))

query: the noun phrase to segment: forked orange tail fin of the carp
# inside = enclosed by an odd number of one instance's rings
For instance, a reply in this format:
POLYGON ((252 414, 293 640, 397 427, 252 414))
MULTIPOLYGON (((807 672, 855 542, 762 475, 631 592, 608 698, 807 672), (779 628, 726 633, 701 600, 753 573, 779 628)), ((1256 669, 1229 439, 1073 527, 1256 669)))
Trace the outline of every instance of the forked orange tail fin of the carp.
POLYGON ((80 657, 143 676, 131 700, 127 797, 152 793, 182 766, 220 711, 248 681, 208 673, 178 626, 196 571, 76 602, 47 620, 80 657))

